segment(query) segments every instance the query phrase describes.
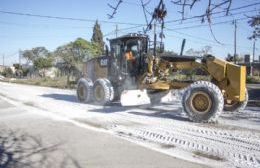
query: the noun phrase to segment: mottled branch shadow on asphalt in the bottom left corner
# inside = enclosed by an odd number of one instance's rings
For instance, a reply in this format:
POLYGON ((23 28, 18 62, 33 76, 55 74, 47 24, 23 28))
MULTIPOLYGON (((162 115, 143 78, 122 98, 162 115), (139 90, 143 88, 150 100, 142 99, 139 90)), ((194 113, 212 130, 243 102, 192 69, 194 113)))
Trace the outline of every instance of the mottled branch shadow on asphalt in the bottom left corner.
POLYGON ((35 167, 76 167, 79 163, 71 156, 62 158, 57 164, 53 153, 58 150, 61 144, 43 145, 40 138, 31 136, 22 131, 10 129, 0 130, 0 167, 1 168, 35 168, 35 167), (68 164, 70 163, 70 165, 68 164))

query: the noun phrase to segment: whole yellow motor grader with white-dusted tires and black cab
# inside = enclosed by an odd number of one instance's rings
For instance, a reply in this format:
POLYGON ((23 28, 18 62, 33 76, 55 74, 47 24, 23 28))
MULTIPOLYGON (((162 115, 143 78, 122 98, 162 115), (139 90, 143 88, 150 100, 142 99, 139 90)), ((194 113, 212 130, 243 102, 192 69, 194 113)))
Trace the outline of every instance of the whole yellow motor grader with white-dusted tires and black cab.
POLYGON ((81 102, 123 106, 171 100, 171 90, 181 90, 184 112, 194 122, 214 122, 223 111, 239 111, 248 100, 246 68, 207 55, 161 54, 149 50, 149 38, 128 34, 110 40, 110 51, 86 63, 77 84, 81 102), (176 80, 174 74, 200 70, 209 80, 176 80), (174 73, 175 72, 175 73, 174 73))

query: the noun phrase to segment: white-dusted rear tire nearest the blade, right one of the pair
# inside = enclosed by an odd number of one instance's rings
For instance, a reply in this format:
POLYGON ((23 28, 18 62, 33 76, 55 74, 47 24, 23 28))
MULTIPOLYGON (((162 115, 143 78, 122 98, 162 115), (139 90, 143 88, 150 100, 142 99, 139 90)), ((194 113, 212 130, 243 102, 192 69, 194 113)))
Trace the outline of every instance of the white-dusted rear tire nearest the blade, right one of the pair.
POLYGON ((114 99, 114 88, 110 81, 105 78, 97 79, 93 86, 93 99, 96 104, 109 104, 114 99))

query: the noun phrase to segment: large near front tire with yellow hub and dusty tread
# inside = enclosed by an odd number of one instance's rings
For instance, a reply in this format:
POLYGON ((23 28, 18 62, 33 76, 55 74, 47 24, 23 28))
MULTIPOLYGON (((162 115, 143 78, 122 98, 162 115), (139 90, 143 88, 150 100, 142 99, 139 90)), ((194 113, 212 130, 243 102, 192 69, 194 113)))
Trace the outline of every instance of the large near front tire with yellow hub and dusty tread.
POLYGON ((184 90, 182 106, 191 121, 216 122, 223 111, 224 98, 215 84, 197 81, 184 90))

